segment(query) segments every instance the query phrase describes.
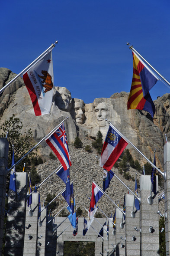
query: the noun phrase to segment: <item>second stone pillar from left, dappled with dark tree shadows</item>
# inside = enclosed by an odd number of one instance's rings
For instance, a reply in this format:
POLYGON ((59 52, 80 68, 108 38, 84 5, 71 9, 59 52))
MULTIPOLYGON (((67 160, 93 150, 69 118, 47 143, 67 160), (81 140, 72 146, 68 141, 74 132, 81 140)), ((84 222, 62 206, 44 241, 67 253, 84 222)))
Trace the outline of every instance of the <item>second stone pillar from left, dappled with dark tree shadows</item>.
POLYGON ((26 219, 27 173, 16 172, 16 191, 9 190, 5 255, 22 256, 26 219))

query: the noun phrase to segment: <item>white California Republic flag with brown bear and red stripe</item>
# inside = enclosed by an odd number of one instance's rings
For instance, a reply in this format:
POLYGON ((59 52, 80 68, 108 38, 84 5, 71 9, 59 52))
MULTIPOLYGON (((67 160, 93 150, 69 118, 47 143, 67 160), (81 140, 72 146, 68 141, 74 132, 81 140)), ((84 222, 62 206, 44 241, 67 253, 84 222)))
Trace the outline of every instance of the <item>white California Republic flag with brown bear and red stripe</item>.
POLYGON ((35 115, 50 112, 53 95, 52 53, 47 53, 23 75, 23 80, 32 100, 35 115))

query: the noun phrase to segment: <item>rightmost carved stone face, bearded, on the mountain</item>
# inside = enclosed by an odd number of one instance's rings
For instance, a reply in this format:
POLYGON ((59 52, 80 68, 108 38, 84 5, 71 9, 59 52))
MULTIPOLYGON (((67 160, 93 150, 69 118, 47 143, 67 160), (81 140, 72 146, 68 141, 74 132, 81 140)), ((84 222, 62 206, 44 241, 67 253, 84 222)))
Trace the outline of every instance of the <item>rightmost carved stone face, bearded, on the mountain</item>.
POLYGON ((99 103, 96 108, 94 108, 95 115, 97 118, 97 123, 99 126, 106 126, 106 118, 108 115, 108 108, 106 106, 106 103, 102 102, 99 103))

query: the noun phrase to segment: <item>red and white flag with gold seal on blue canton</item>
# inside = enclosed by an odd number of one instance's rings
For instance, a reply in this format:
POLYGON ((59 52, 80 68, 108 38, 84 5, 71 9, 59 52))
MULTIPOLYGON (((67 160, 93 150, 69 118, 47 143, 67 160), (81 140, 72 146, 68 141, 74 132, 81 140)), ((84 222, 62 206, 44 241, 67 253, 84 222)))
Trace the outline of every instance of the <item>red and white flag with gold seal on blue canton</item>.
POLYGON ((110 171, 127 144, 128 143, 109 126, 100 157, 100 166, 110 171))

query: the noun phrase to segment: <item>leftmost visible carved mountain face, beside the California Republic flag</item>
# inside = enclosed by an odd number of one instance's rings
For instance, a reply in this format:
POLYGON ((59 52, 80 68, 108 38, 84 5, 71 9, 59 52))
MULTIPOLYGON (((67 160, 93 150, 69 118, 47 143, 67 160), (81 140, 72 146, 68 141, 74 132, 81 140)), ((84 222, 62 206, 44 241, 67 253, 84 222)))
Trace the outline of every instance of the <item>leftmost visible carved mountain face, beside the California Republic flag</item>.
POLYGON ((69 112, 71 109, 71 93, 65 87, 56 87, 55 105, 61 110, 69 112))

